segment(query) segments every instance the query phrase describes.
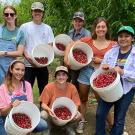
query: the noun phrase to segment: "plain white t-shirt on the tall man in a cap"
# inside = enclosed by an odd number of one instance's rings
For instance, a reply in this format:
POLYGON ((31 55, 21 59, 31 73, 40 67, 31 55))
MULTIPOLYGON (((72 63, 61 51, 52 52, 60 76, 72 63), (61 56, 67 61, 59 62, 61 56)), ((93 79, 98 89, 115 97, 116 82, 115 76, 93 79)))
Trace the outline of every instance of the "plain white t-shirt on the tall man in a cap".
POLYGON ((33 21, 27 22, 21 25, 20 31, 24 33, 25 51, 28 55, 31 55, 32 49, 35 46, 39 44, 48 45, 48 43, 52 43, 54 40, 52 28, 44 23, 38 25, 33 21))

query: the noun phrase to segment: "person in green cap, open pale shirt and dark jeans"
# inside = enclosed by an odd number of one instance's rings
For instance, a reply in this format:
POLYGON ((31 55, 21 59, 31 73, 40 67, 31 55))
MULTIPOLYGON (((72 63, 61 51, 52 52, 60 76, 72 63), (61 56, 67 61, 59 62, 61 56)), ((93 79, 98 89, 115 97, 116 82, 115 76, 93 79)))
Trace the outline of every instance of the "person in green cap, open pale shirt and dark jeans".
POLYGON ((122 26, 118 30, 118 44, 109 50, 102 61, 101 68, 114 69, 121 76, 123 96, 115 102, 99 100, 96 114, 96 134, 105 135, 105 118, 114 105, 114 124, 110 135, 125 135, 123 133, 126 112, 135 93, 135 47, 133 45, 135 32, 130 26, 122 26))

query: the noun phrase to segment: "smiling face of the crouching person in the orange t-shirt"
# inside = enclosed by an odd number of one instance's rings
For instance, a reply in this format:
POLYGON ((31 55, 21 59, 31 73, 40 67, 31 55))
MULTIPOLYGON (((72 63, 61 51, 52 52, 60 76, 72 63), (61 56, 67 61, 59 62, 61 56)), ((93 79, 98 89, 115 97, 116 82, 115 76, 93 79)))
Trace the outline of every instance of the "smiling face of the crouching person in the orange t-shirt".
POLYGON ((64 71, 58 71, 58 73, 56 73, 56 81, 59 84, 66 83, 67 79, 68 79, 67 73, 65 73, 64 71))

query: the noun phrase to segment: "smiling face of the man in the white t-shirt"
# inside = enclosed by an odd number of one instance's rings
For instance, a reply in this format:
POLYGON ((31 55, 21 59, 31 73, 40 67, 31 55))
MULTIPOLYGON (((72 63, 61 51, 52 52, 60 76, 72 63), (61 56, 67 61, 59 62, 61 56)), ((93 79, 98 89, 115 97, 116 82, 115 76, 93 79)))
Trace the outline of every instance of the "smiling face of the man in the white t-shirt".
POLYGON ((43 15, 44 15, 44 13, 40 9, 32 10, 33 21, 35 21, 35 22, 41 22, 43 15))

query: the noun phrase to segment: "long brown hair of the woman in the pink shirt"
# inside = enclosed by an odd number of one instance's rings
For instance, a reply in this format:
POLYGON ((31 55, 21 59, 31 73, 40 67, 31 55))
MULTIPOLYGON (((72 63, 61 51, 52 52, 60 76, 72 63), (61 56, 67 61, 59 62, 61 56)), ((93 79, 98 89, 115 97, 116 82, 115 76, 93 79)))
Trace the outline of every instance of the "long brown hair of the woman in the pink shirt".
MULTIPOLYGON (((6 84, 7 88, 8 88, 8 90, 11 90, 13 88, 13 86, 12 86, 12 73, 11 73, 10 70, 12 70, 17 63, 24 64, 24 62, 20 61, 20 60, 15 60, 15 61, 11 62, 11 65, 9 66, 7 74, 5 76, 4 81, 5 81, 5 84, 6 84)), ((24 64, 24 66, 25 66, 25 64, 24 64)), ((21 80, 23 81, 24 77, 21 80)))

